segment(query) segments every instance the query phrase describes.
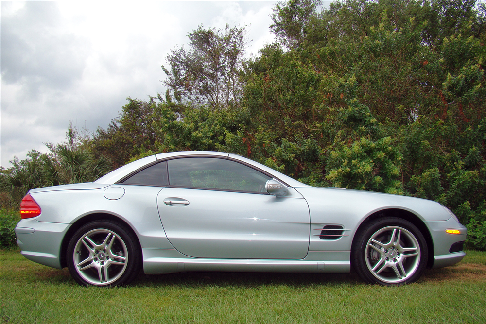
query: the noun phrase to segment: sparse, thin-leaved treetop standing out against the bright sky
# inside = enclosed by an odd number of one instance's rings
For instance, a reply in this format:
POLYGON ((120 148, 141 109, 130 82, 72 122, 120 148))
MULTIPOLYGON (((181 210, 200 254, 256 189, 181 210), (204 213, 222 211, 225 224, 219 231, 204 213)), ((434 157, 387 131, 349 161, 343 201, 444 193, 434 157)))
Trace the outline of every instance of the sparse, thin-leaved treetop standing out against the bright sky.
POLYGON ((169 89, 166 100, 207 104, 215 110, 238 105, 243 83, 240 73, 246 45, 244 28, 204 29, 188 35, 189 49, 183 46, 167 56, 170 71, 163 67, 169 89))

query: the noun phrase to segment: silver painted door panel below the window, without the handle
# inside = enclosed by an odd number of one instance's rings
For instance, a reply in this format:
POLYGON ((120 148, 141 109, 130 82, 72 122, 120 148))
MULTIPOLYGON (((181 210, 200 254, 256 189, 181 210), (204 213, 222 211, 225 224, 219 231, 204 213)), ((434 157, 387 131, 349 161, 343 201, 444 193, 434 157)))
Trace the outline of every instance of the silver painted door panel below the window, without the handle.
POLYGON ((187 256, 303 259, 307 255, 309 208, 302 196, 165 188, 157 200, 167 238, 187 256), (190 204, 165 204, 171 197, 190 204))

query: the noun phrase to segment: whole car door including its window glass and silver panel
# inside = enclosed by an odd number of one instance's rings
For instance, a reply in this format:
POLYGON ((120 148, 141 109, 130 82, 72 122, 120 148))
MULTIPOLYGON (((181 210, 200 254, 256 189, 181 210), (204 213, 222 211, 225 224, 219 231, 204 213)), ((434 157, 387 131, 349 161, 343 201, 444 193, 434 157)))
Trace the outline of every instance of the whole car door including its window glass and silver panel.
POLYGON ((269 176, 218 157, 167 161, 169 186, 157 196, 167 238, 197 258, 302 259, 309 249, 310 217, 293 188, 266 193, 269 176))

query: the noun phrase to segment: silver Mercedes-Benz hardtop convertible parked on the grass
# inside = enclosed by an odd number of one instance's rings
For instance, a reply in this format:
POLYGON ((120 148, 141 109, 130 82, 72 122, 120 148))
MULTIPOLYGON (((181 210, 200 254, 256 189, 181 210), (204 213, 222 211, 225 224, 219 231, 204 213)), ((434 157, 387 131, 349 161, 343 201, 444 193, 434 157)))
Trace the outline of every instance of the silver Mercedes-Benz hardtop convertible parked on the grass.
POLYGON ((93 183, 30 190, 22 255, 81 285, 193 271, 348 273, 417 281, 464 256, 466 228, 439 203, 315 188, 239 155, 142 158, 93 183))

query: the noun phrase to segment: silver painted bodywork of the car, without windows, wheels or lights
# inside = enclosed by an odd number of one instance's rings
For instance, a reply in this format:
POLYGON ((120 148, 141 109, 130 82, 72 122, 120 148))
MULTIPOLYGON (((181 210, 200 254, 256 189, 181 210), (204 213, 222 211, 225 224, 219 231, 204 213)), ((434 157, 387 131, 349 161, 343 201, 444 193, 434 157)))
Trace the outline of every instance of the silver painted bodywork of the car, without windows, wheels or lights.
POLYGON ((18 244, 25 257, 54 268, 61 268, 60 254, 66 252, 61 251, 61 243, 69 227, 92 214, 109 214, 133 229, 142 248, 144 271, 149 274, 346 273, 350 269, 352 240, 361 223, 373 213, 390 208, 409 211, 424 222, 433 240, 434 268, 457 263, 465 255, 462 251, 449 253, 449 248, 466 239, 466 228, 436 202, 376 192, 313 188, 228 153, 157 154, 127 164, 94 183, 39 188, 29 193, 42 213, 17 224, 18 244), (276 197, 266 193, 117 183, 147 164, 179 156, 218 156, 240 161, 284 183, 287 194, 276 197), (189 204, 164 203, 175 199, 189 204), (321 239, 320 231, 325 225, 340 225, 345 235, 321 239), (445 233, 445 229, 452 228, 461 234, 445 233))

